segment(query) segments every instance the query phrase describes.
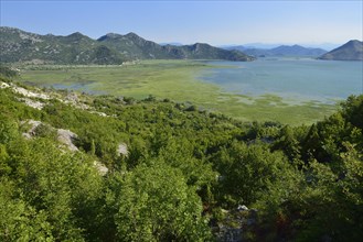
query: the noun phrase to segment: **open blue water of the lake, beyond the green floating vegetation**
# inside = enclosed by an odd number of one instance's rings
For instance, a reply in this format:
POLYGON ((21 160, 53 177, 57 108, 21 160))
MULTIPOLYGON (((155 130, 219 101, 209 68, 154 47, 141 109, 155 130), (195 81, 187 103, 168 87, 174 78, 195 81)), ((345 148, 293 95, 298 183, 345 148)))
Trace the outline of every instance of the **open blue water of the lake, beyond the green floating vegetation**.
POLYGON ((226 92, 276 95, 286 102, 334 103, 363 89, 363 62, 312 58, 260 58, 255 62, 206 62, 215 65, 200 79, 226 92), (224 66, 224 68, 218 68, 224 66))

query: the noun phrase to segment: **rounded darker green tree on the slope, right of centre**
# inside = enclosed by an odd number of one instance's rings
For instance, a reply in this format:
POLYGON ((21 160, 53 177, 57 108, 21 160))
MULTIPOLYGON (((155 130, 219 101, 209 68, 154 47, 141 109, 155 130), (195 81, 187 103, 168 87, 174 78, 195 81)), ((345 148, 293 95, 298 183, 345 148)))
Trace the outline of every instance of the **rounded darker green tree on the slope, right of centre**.
POLYGON ((270 152, 261 143, 247 145, 235 141, 214 160, 221 174, 217 194, 234 207, 255 202, 270 184, 284 177, 290 168, 281 152, 270 152))

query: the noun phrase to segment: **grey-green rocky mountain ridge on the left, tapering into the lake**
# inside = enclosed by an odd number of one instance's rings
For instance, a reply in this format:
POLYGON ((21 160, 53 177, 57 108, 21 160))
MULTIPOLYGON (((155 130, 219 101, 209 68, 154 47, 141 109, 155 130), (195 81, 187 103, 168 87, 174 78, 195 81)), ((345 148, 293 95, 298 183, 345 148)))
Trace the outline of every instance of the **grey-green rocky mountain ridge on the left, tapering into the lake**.
POLYGON ((121 64, 132 59, 225 59, 253 61, 239 51, 209 44, 160 45, 135 33, 109 33, 93 40, 82 33, 67 36, 40 35, 0 26, 0 62, 50 64, 121 64))

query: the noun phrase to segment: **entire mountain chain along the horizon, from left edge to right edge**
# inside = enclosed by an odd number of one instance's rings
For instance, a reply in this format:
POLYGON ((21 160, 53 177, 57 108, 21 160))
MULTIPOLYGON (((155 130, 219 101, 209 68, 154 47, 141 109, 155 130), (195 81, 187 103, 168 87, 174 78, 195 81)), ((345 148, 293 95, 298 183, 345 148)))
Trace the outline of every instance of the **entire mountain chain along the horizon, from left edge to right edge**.
POLYGON ((49 64, 121 64, 134 59, 225 59, 253 61, 255 57, 306 56, 320 59, 362 61, 363 44, 350 41, 327 52, 300 45, 280 45, 274 48, 157 44, 135 33, 108 33, 93 40, 79 32, 67 36, 40 35, 14 28, 0 26, 0 62, 29 62, 49 64))

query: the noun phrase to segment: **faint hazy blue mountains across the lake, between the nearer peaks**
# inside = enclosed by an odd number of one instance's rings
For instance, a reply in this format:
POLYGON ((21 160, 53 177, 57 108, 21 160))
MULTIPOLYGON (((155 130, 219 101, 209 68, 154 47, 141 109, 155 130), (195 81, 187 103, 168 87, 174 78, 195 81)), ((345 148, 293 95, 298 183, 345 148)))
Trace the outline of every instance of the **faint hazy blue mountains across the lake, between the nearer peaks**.
POLYGON ((318 57, 327 53, 322 48, 308 48, 300 45, 280 45, 274 48, 250 48, 243 45, 231 46, 227 50, 237 50, 244 52, 247 55, 255 57, 268 57, 268 56, 306 56, 318 57))

